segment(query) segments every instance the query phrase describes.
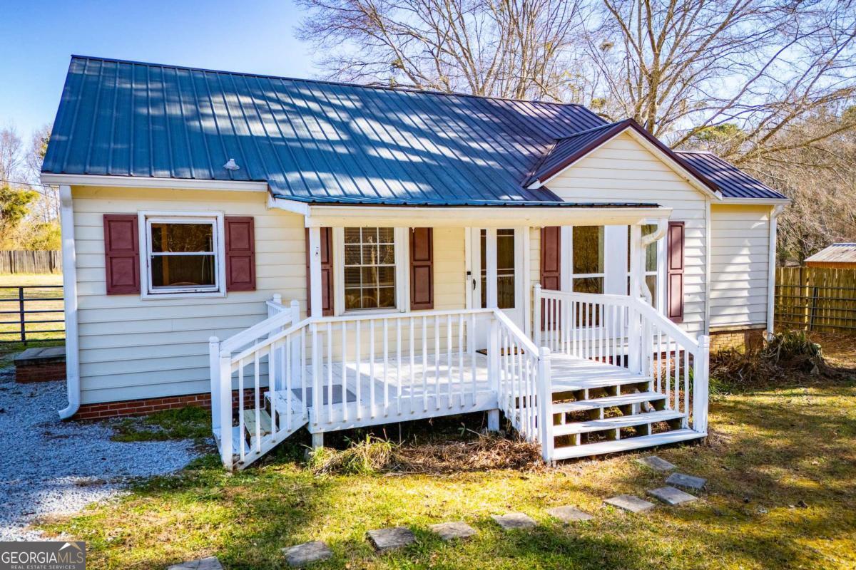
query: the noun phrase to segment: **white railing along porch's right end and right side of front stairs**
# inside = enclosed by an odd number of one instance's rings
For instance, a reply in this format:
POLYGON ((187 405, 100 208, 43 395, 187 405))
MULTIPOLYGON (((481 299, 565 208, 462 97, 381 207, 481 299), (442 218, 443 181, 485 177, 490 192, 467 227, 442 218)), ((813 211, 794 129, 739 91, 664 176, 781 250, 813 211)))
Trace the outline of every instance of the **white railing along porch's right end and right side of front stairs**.
POLYGON ((601 361, 651 378, 653 391, 666 396, 669 408, 685 414, 684 427, 707 432, 708 337, 691 338, 639 298, 544 291, 539 285, 534 330, 535 343, 553 354, 601 361))

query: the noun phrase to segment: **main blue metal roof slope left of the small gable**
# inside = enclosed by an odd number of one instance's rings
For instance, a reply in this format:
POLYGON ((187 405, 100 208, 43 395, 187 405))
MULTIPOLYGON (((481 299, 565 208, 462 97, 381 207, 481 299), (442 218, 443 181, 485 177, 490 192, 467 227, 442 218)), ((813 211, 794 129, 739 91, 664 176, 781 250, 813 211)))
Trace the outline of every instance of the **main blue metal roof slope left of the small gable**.
POLYGON ((310 203, 570 206, 526 182, 600 126, 573 104, 72 56, 42 172, 261 181, 310 203))

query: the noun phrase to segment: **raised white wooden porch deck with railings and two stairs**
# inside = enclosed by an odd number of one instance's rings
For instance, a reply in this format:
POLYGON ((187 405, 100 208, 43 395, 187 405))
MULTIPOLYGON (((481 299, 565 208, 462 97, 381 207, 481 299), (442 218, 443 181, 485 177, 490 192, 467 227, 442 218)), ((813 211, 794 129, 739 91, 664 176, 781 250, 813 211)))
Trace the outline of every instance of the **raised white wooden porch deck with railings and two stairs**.
POLYGON ((532 293, 538 344, 500 309, 299 320, 297 303, 271 301, 263 323, 212 339, 223 463, 246 467, 302 426, 319 446, 324 432, 478 411, 493 430, 502 411, 544 461, 706 435, 705 338, 639 298, 532 293))

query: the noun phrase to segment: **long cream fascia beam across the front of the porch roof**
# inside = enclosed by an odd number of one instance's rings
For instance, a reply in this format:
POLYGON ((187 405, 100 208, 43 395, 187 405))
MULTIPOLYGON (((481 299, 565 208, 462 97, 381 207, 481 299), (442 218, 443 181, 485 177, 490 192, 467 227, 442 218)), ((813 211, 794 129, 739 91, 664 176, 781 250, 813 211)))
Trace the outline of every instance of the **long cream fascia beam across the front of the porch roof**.
POLYGON ((669 218, 671 208, 309 206, 306 227, 627 226, 669 218))

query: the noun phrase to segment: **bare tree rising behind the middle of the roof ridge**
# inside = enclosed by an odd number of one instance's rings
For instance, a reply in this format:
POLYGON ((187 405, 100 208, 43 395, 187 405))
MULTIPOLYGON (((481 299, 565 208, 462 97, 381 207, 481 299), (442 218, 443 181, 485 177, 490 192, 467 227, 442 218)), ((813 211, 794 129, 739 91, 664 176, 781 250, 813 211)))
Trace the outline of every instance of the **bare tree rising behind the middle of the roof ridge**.
POLYGON ((559 100, 579 0, 297 0, 300 38, 336 79, 559 100))

